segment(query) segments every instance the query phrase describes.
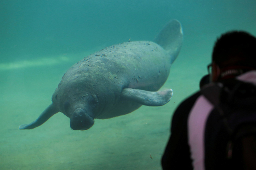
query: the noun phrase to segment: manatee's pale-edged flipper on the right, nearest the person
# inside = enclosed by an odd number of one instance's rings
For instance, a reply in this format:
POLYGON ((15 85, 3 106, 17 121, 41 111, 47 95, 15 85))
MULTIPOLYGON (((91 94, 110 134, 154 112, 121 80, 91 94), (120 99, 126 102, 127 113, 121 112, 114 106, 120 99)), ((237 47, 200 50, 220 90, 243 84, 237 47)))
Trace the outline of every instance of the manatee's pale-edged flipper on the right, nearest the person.
POLYGON ((132 100, 146 106, 162 106, 172 98, 172 89, 149 92, 132 88, 125 88, 121 92, 121 98, 132 100))

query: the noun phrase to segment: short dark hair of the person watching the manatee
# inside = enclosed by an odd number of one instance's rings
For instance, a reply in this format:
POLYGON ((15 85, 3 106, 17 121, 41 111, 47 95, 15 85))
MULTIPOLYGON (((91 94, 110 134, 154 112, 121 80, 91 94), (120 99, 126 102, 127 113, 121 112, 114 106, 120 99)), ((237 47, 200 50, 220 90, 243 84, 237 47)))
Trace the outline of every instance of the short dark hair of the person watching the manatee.
POLYGON ((220 68, 248 66, 256 68, 256 38, 244 31, 231 31, 217 39, 212 61, 220 68))

